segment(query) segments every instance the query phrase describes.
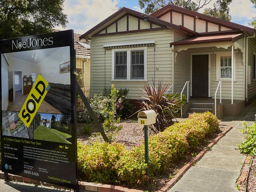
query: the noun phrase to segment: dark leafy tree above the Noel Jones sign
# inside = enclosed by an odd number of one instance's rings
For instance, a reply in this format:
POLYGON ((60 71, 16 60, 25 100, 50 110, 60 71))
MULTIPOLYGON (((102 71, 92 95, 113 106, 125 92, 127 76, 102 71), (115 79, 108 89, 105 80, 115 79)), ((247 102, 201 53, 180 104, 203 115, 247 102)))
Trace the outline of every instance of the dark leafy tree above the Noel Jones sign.
POLYGON ((64 0, 0 0, 0 39, 52 32, 67 24, 64 0))

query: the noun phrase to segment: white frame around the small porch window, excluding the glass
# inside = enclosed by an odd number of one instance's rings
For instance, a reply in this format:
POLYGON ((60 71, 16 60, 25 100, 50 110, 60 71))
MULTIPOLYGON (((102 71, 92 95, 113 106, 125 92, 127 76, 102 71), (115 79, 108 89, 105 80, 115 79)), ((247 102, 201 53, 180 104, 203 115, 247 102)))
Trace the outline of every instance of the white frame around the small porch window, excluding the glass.
MULTIPOLYGON (((216 53, 216 81, 231 81, 231 78, 221 78, 221 57, 232 57, 231 51, 224 51, 224 52, 215 52, 216 53)), ((233 59, 234 59, 234 77, 233 81, 236 81, 236 53, 237 51, 234 51, 233 59)))

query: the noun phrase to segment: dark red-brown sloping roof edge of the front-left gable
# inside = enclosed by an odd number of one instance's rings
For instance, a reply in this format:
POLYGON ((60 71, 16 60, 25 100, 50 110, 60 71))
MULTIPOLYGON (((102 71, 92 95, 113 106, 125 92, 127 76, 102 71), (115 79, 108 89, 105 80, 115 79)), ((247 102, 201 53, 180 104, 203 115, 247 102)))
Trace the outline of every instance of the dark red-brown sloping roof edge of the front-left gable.
POLYGON ((141 19, 144 19, 145 17, 147 17, 148 21, 150 21, 150 22, 160 24, 160 25, 165 26, 167 28, 173 28, 175 30, 183 31, 184 33, 187 33, 189 35, 197 35, 198 34, 197 32, 189 30, 189 29, 187 29, 183 26, 178 26, 178 25, 172 24, 170 22, 166 22, 164 20, 161 20, 159 18, 150 16, 150 15, 145 15, 144 13, 140 13, 138 11, 128 9, 126 7, 122 7, 117 12, 115 12, 113 15, 109 16, 108 18, 106 18, 105 20, 103 20, 102 22, 97 24, 95 27, 91 28, 89 31, 87 31, 86 33, 81 35, 80 39, 87 39, 88 37, 91 37, 95 33, 99 32, 100 30, 102 30, 106 26, 108 26, 108 24, 110 24, 111 22, 113 22, 113 21, 117 20, 118 18, 122 17, 126 13, 128 13, 130 15, 134 15, 135 17, 139 17, 141 19))

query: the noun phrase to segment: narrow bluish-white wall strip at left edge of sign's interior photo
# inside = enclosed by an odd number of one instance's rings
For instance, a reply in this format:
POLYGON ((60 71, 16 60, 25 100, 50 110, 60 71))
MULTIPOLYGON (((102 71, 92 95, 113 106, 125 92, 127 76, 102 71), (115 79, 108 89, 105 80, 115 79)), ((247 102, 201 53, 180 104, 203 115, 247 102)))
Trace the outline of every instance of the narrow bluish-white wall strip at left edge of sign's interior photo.
POLYGON ((2 63, 2 110, 7 111, 8 103, 9 103, 9 85, 8 85, 8 64, 6 59, 4 58, 4 54, 1 55, 1 63, 2 63))

